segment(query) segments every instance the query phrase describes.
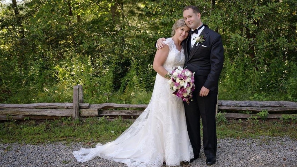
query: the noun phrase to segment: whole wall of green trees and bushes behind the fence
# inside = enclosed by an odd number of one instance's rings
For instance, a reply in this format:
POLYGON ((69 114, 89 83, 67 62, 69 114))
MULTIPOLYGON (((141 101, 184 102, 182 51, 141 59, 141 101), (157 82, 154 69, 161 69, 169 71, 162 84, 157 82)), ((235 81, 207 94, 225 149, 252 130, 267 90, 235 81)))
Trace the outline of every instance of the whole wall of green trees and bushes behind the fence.
POLYGON ((147 103, 137 98, 154 86, 154 42, 190 4, 222 35, 219 99, 297 101, 296 2, 211 2, 1 4, 0 103, 69 102, 76 84, 87 103, 147 103))

